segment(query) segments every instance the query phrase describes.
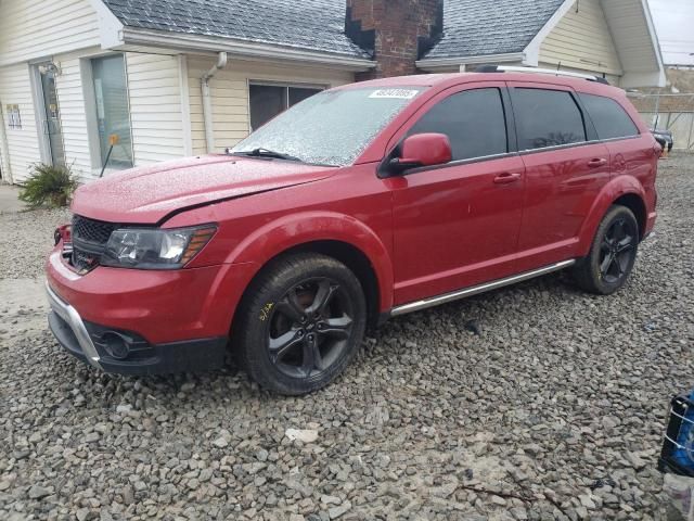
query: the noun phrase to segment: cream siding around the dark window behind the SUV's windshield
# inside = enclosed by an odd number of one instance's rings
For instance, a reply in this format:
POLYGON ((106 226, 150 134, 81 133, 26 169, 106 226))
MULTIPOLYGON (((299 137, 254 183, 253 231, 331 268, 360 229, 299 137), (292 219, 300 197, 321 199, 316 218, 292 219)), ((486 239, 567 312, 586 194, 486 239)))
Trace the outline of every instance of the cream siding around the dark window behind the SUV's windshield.
MULTIPOLYGON (((206 153, 201 77, 214 65, 213 60, 189 58, 189 91, 193 153, 206 153)), ((215 150, 221 152, 248 135, 248 81, 266 80, 308 84, 326 88, 349 84, 354 74, 301 66, 282 66, 255 62, 230 61, 210 80, 215 150)))

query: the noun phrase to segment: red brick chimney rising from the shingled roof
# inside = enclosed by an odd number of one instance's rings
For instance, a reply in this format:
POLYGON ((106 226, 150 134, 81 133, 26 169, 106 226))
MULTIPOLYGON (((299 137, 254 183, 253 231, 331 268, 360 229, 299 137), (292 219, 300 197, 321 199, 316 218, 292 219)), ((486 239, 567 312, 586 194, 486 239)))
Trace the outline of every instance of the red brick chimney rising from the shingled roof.
POLYGON ((345 33, 376 67, 357 80, 415 74, 444 31, 444 0, 347 0, 345 33))

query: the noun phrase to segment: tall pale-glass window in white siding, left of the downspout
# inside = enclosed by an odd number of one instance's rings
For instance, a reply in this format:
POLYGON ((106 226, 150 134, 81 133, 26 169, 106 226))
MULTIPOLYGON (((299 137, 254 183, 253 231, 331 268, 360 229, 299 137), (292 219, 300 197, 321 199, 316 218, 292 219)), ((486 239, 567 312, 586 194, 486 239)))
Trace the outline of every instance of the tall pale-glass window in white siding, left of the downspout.
POLYGON ((124 55, 92 59, 91 75, 97 104, 100 164, 103 165, 108 157, 108 168, 130 168, 132 138, 124 55), (108 155, 112 143, 115 144, 108 155))

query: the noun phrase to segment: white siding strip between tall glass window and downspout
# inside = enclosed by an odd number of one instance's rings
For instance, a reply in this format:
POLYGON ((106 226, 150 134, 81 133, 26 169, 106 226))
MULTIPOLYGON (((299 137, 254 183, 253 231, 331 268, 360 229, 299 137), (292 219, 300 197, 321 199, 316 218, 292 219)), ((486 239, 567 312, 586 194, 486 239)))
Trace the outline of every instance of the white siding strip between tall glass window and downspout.
POLYGON ((136 166, 182 156, 178 58, 128 53, 127 74, 136 166))

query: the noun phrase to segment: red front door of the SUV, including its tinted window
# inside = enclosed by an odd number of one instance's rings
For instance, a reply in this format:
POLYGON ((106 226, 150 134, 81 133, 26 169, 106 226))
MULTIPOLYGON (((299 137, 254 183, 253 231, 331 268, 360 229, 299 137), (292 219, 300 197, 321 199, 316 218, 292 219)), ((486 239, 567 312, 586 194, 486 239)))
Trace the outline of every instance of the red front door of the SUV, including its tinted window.
POLYGON ((514 272, 525 167, 504 102, 502 82, 449 89, 394 138, 440 132, 453 152, 446 165, 384 180, 393 190, 396 305, 514 272))

